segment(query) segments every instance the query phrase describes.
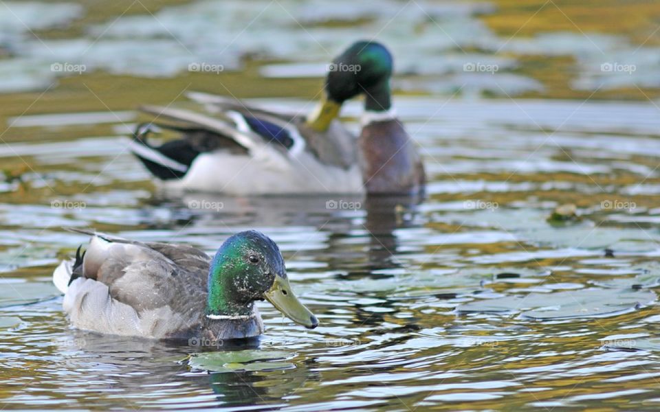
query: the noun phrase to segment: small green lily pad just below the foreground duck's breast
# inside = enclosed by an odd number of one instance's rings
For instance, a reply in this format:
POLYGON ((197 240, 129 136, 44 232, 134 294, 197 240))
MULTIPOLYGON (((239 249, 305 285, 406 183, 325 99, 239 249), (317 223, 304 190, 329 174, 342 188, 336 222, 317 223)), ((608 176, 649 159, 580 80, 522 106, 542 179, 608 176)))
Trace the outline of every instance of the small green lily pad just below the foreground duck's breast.
POLYGON ((193 369, 214 372, 292 369, 296 365, 282 361, 289 356, 289 352, 268 350, 206 352, 190 356, 188 365, 193 369))

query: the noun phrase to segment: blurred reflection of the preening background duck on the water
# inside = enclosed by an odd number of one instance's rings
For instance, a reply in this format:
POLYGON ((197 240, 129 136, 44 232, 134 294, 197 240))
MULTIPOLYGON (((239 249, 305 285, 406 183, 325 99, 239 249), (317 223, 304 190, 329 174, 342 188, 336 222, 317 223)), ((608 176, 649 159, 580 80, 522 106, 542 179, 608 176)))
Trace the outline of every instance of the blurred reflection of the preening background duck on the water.
MULTIPOLYGON (((362 271, 395 268, 399 244, 396 229, 413 227, 419 195, 410 196, 223 196, 221 194, 185 193, 173 198, 161 193, 153 200, 186 216, 186 229, 219 233, 250 228, 277 229, 281 235, 311 231, 327 235, 327 253, 331 267, 346 262, 360 262, 362 271), (355 248, 366 238, 364 250, 355 248)), ((351 263, 353 264, 353 263, 351 263)))

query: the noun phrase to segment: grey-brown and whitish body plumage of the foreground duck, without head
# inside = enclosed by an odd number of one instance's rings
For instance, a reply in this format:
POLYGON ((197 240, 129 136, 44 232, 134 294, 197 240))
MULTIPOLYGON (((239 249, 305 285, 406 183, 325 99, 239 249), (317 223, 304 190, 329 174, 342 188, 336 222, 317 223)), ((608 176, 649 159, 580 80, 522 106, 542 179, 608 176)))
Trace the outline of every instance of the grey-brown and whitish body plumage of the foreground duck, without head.
MULTIPOLYGON (((83 276, 68 285, 63 308, 79 329, 150 339, 242 339, 259 336, 256 307, 245 319, 208 319, 210 258, 193 247, 92 236, 83 258, 83 276)), ((70 277, 71 262, 54 273, 70 277)), ((195 343, 197 344, 197 343, 195 343)))

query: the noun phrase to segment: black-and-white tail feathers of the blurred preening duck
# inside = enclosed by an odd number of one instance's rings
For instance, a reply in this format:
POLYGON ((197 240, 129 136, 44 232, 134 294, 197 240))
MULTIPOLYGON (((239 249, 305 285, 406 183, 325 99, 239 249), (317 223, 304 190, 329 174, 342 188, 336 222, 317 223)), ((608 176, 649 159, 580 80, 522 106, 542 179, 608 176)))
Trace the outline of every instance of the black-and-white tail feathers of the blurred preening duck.
POLYGON ((155 125, 151 123, 137 125, 133 133, 131 152, 158 179, 181 179, 199 155, 199 150, 185 139, 168 141, 158 147, 151 146, 146 137, 153 131, 156 131, 155 125))

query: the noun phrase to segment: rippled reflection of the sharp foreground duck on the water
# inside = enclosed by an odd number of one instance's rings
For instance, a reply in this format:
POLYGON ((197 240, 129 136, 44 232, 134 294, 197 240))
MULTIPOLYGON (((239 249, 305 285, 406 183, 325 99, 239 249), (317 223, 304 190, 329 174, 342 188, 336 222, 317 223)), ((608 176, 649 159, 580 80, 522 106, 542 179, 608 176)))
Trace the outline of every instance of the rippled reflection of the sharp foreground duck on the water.
MULTIPOLYGON (((189 356, 201 352, 259 350, 259 339, 200 347, 189 346, 187 341, 152 341, 72 330, 58 345, 62 352, 83 352, 69 357, 72 369, 94 370, 99 380, 108 382, 107 390, 116 396, 107 398, 99 405, 101 407, 157 407, 157 400, 171 400, 177 393, 182 397, 181 404, 190 405, 197 400, 206 407, 211 394, 217 401, 216 406, 223 407, 276 403, 303 387, 305 382, 320 379, 304 361, 292 361, 295 368, 287 369, 285 374, 267 368, 259 372, 207 372, 188 365, 189 356), (136 363, 140 364, 139 373, 135 370, 136 363)), ((286 348, 278 350, 286 352, 286 348)), ((292 352, 291 357, 294 356, 296 353, 292 352)))

